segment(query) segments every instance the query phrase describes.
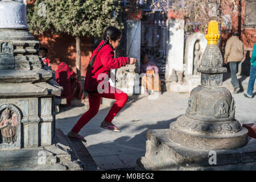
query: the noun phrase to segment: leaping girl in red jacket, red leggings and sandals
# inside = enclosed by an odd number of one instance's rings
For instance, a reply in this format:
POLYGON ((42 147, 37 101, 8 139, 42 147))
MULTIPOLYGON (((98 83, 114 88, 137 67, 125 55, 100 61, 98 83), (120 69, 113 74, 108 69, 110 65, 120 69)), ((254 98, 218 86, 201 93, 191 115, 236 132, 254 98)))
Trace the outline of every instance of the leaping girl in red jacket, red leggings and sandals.
POLYGON ((86 142, 84 137, 78 133, 98 113, 101 97, 116 100, 108 115, 102 121, 101 127, 112 131, 121 131, 112 123, 112 120, 126 104, 128 96, 122 90, 110 86, 108 81, 110 69, 125 67, 127 64, 135 64, 137 61, 133 57, 114 58, 114 50, 119 46, 121 38, 122 32, 118 28, 110 26, 104 32, 102 42, 93 51, 89 65, 86 68, 84 82, 84 89, 88 92, 89 97, 89 110, 81 116, 68 133, 69 138, 86 142))

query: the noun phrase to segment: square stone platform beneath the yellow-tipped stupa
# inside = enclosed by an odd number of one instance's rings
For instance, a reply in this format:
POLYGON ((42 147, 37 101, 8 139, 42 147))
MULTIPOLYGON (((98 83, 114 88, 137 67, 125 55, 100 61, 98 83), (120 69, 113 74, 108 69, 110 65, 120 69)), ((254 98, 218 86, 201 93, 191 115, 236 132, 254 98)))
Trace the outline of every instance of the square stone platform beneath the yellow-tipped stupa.
POLYGON ((197 150, 172 142, 169 129, 148 130, 146 154, 137 160, 138 170, 256 170, 256 139, 235 150, 197 150), (209 153, 210 152, 210 153, 209 153), (216 164, 209 160, 216 152, 216 164))

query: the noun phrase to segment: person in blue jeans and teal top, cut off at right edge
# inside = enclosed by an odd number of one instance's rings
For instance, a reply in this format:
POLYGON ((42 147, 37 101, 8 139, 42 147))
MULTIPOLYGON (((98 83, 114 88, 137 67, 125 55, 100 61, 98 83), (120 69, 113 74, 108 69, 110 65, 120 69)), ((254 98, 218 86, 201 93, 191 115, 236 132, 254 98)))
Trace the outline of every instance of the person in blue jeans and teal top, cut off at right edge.
POLYGON ((254 82, 256 78, 256 43, 253 46, 253 54, 251 55, 250 79, 248 82, 247 93, 243 93, 245 97, 253 98, 254 82))

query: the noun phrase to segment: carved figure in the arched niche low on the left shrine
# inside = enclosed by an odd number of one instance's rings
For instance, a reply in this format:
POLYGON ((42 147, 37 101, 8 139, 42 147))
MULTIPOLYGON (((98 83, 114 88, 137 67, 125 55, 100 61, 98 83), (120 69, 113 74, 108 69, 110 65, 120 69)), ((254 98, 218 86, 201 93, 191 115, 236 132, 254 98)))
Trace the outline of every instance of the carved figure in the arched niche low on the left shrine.
POLYGON ((6 108, 0 117, 0 130, 3 143, 14 143, 16 141, 16 128, 16 113, 6 108))

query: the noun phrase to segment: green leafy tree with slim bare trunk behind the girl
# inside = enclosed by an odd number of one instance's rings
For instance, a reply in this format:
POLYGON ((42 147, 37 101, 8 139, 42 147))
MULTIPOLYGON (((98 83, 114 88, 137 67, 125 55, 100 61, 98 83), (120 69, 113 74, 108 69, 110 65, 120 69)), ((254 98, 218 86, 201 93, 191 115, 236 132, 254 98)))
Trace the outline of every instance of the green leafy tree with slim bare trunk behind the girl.
POLYGON ((76 69, 81 77, 81 36, 100 38, 108 26, 123 29, 121 2, 118 0, 36 0, 28 3, 30 31, 43 34, 66 33, 76 39, 76 69))

